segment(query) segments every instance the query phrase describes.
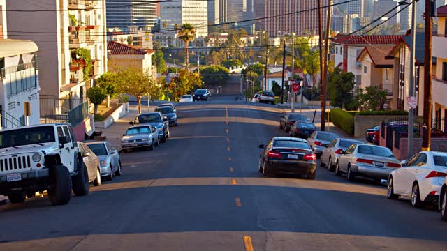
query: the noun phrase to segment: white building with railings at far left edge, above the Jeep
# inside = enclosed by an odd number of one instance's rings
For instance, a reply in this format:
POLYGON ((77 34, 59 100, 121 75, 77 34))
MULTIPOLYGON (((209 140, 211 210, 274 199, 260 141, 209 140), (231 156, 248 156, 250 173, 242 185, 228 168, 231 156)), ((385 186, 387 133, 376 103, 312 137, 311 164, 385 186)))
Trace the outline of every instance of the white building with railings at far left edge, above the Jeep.
MULTIPOLYGON (((36 43, 8 39, 5 0, 0 0, 0 129, 39 123, 39 83, 36 43), (31 115, 25 119, 24 104, 31 115)), ((8 13, 9 14, 9 13, 8 13)))

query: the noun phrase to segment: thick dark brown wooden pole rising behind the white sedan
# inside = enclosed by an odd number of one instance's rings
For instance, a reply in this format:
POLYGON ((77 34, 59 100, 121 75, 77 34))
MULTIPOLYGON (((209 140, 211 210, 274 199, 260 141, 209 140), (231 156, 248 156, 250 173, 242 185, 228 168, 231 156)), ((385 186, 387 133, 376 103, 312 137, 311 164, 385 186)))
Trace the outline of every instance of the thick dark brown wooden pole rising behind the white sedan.
POLYGON ((422 151, 430 151, 430 133, 432 132, 432 0, 425 0, 424 50, 424 124, 422 151))

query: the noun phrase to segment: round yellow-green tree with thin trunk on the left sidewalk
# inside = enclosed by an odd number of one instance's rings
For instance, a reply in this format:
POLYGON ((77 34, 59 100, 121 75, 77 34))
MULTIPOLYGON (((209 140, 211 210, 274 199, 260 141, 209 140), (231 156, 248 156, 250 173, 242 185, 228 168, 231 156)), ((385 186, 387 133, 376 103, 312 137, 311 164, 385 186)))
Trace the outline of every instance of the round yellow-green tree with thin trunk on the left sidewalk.
POLYGON ((129 67, 119 70, 117 73, 118 89, 121 93, 135 96, 138 102, 138 114, 141 113, 141 98, 157 92, 156 81, 150 75, 149 70, 129 67))

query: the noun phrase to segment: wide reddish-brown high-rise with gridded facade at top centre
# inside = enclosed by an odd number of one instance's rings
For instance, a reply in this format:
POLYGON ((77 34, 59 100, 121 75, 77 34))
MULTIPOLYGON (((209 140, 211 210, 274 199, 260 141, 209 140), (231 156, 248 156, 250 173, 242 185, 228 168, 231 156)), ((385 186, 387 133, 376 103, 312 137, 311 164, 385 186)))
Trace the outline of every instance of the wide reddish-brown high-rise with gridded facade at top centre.
MULTIPOLYGON (((328 5, 328 0, 322 1, 328 5)), ((298 35, 318 33, 318 1, 315 0, 265 0, 265 31, 269 36, 295 32, 298 35), (293 14, 291 14, 293 13, 293 14)), ((327 8, 322 11, 321 22, 324 24, 327 8)))

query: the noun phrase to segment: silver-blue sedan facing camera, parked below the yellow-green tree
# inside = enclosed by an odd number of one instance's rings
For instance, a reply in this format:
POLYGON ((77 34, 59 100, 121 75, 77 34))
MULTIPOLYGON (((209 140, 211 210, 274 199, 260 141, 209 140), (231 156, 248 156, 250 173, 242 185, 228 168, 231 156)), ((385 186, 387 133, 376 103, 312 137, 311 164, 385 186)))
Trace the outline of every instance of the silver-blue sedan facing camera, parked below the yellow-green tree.
POLYGON ((154 150, 159 146, 159 134, 151 125, 133 126, 127 128, 121 140, 122 149, 149 148, 154 150))

